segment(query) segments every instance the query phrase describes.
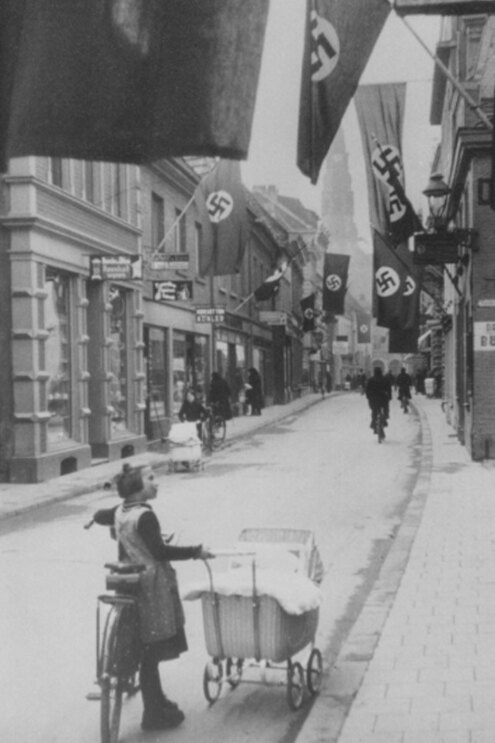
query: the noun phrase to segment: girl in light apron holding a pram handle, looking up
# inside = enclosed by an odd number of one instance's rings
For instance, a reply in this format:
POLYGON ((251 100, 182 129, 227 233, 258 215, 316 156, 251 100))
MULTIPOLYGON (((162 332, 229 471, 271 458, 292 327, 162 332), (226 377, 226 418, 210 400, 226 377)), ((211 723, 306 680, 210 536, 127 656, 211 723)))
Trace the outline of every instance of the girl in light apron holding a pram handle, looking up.
POLYGON ((173 560, 208 559, 213 555, 202 545, 176 547, 162 538, 160 522, 148 501, 158 487, 151 467, 126 463, 115 478, 122 504, 100 509, 94 521, 110 526, 118 542, 119 560, 145 565, 138 593, 141 633, 139 682, 143 698, 143 730, 174 728, 184 713, 163 693, 159 664, 178 658, 187 650, 184 612, 179 597, 173 560))

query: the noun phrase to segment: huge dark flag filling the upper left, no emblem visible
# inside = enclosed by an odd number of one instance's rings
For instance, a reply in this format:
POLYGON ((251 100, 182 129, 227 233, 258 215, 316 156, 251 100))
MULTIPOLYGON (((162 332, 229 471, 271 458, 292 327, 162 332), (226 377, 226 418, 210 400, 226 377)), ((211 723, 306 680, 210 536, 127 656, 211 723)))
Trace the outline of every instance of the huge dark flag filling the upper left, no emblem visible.
POLYGON ((0 167, 244 159, 268 0, 2 0, 0 167))

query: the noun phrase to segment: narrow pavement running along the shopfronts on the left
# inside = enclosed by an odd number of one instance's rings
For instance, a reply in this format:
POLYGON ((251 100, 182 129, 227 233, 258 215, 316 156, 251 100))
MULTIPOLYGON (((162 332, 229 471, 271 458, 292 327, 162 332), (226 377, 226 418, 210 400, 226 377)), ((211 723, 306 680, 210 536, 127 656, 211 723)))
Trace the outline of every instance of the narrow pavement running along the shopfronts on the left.
MULTIPOLYGON (((265 408, 261 416, 234 418, 227 423, 226 444, 228 446, 254 430, 287 418, 299 410, 317 404, 320 400, 321 395, 308 393, 286 405, 272 405, 265 408)), ((155 470, 160 471, 168 467, 169 456, 165 452, 150 451, 129 457, 126 461, 131 464, 149 464, 155 470)), ((49 503, 101 490, 104 484, 119 471, 121 464, 121 460, 99 464, 43 483, 0 483, 0 519, 16 516, 49 503)))

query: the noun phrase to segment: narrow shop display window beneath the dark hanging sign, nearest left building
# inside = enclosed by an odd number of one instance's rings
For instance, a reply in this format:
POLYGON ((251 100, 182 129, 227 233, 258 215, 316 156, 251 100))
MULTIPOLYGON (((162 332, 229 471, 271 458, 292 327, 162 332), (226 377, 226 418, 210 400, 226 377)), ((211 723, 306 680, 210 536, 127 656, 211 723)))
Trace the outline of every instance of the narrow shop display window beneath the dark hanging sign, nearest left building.
POLYGON ((112 434, 127 430, 127 292, 115 285, 109 288, 110 313, 110 405, 112 434))

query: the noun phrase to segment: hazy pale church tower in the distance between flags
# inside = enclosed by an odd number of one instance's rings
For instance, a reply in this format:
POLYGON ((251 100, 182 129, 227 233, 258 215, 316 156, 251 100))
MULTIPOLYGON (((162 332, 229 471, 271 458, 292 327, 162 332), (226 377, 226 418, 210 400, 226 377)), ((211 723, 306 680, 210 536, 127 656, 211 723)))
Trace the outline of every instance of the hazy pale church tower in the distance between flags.
POLYGON ((330 232, 329 250, 351 256, 349 291, 364 307, 371 305, 371 256, 359 247, 354 221, 349 156, 340 127, 326 158, 321 197, 322 220, 330 232))

